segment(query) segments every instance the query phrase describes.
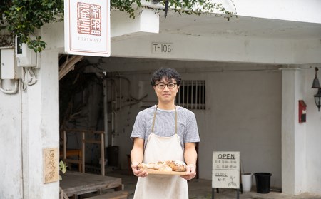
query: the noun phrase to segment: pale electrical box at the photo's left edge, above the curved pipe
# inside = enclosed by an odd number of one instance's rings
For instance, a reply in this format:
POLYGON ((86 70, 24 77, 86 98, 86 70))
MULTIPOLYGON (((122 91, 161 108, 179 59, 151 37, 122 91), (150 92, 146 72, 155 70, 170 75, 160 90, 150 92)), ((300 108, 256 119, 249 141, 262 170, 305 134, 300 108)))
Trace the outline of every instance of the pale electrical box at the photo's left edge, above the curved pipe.
POLYGON ((22 75, 22 68, 16 66, 14 49, 1 49, 1 79, 19 79, 22 75))

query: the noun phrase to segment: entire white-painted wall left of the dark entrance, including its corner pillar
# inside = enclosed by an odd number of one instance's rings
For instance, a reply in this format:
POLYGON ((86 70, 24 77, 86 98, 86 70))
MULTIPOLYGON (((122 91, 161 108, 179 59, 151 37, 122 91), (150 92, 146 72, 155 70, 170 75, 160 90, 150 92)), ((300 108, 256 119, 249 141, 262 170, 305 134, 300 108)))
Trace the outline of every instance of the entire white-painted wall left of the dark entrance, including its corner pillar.
MULTIPOLYGON (((52 41, 57 31, 42 36, 52 41)), ((27 85, 31 76, 25 71, 18 93, 0 91, 0 198, 59 197, 58 181, 44 183, 43 150, 59 148, 58 51, 52 51, 56 46, 50 44, 37 60, 40 68, 33 68, 34 85, 27 85)), ((14 88, 13 81, 1 84, 4 90, 14 88)))

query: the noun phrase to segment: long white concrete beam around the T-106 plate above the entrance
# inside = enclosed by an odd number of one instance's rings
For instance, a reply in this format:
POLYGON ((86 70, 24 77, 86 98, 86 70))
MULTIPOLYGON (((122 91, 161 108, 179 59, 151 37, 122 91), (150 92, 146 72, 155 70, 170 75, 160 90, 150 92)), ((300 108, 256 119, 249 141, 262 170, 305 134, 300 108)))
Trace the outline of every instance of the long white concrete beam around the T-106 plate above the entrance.
POLYGON ((154 34, 114 41, 112 56, 245 63, 320 63, 319 40, 195 37, 154 34), (171 44, 171 53, 152 53, 152 43, 171 44), (139 48, 138 48, 139 44, 139 48), (126 49, 126 52, 123 51, 126 49))

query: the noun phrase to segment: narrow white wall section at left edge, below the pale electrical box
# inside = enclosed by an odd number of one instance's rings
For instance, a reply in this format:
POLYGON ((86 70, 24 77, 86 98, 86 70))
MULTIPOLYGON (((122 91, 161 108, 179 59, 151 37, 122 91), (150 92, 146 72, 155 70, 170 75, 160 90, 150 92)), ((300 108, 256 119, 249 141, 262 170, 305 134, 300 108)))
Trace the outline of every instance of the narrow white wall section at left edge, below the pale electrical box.
MULTIPOLYGON (((13 89, 14 82, 1 81, 1 88, 13 89)), ((22 198, 21 91, 8 95, 0 91, 0 198, 22 198)))

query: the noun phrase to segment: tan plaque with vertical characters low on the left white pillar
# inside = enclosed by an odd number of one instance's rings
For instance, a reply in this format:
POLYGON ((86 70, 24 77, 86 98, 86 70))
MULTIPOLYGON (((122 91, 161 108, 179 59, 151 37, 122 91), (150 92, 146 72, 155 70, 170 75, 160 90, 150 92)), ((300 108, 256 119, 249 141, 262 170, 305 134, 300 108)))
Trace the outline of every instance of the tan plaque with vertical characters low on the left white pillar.
POLYGON ((52 183, 59 180, 59 156, 58 148, 44 148, 44 183, 52 183))

